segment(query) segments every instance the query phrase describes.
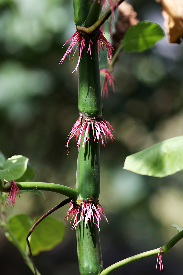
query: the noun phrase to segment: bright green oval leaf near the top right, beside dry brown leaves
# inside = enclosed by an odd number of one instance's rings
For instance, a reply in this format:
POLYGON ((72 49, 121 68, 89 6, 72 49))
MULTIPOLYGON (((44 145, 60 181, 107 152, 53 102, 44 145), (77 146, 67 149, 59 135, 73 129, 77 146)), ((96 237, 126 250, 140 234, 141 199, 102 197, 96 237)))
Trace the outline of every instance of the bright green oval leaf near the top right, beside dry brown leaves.
POLYGON ((121 40, 121 46, 126 51, 145 51, 165 36, 162 28, 150 21, 139 22, 131 26, 121 40))

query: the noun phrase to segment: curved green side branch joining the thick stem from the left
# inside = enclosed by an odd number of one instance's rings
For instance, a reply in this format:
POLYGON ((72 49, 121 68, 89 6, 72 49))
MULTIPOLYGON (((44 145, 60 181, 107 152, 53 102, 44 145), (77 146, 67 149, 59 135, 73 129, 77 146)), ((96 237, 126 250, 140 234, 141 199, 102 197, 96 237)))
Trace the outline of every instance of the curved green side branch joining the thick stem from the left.
MULTIPOLYGON (((56 183, 47 183, 47 182, 17 182, 16 185, 18 186, 18 188, 20 190, 34 190, 34 189, 38 189, 38 190, 45 190, 45 191, 51 191, 51 192, 56 192, 62 195, 65 195, 71 199, 76 200, 78 197, 78 193, 76 190, 64 186, 64 185, 60 185, 60 184, 56 184, 56 183)), ((1 183, 0 183, 0 192, 10 192, 10 189, 5 189, 2 187, 1 183)))

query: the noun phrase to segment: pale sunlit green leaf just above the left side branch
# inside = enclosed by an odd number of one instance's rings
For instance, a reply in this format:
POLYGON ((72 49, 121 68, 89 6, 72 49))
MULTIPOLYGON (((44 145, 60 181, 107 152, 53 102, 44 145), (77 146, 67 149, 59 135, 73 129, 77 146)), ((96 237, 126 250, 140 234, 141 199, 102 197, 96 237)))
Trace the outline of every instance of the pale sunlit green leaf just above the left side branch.
POLYGON ((8 158, 0 170, 0 178, 5 178, 8 182, 23 176, 27 169, 28 158, 25 156, 12 156, 8 158))

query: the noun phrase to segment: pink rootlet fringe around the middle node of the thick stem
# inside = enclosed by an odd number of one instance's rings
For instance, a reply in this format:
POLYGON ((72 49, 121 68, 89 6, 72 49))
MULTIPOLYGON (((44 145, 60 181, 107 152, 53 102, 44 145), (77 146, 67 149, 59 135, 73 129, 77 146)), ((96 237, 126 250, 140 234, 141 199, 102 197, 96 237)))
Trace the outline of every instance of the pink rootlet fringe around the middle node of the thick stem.
POLYGON ((70 137, 68 139, 66 148, 68 148, 69 141, 71 138, 73 138, 73 136, 76 137, 76 140, 79 137, 79 139, 77 140, 77 145, 79 146, 81 143, 83 134, 85 135, 84 141, 82 144, 82 147, 84 148, 85 143, 90 140, 91 129, 93 131, 93 141, 94 142, 95 142, 95 140, 96 140, 96 142, 99 142, 99 140, 101 140, 102 144, 105 146, 104 140, 106 143, 107 143, 107 140, 113 141, 112 139, 114 137, 112 135, 111 130, 113 132, 115 132, 115 131, 107 120, 101 119, 99 121, 87 121, 87 119, 86 119, 85 122, 82 123, 82 120, 79 118, 79 119, 77 119, 76 123, 72 127, 72 130, 69 134, 70 137))

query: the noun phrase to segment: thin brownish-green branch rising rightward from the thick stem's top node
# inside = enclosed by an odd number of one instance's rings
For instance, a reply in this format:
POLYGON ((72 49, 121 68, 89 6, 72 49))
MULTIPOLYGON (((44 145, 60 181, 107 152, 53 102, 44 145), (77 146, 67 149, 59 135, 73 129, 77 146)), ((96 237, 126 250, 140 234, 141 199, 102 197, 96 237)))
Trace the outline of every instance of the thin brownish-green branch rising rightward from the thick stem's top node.
MULTIPOLYGON (((120 5, 124 0, 118 0, 118 5, 120 5)), ((117 9, 118 5, 114 5, 113 9, 117 9)), ((82 31, 86 34, 93 35, 97 32, 97 30, 102 26, 102 24, 109 18, 111 15, 111 7, 102 15, 99 20, 97 20, 92 26, 90 27, 83 27, 83 26, 76 26, 78 31, 82 31)))

